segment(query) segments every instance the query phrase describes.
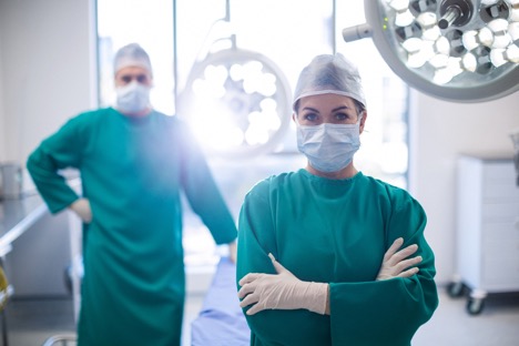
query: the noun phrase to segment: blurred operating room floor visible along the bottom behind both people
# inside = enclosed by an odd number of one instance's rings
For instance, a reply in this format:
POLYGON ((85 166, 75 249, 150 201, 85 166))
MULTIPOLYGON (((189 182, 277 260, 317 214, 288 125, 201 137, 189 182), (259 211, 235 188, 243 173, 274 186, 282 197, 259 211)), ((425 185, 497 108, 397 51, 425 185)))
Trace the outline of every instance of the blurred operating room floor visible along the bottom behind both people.
MULTIPOLYGON (((182 346, 190 345, 190 324, 196 317, 203 298, 200 293, 186 298, 185 337, 182 346)), ((445 289, 440 289, 440 305, 431 320, 418 330, 413 346, 518 345, 518 294, 490 296, 484 311, 477 316, 469 316, 465 305, 465 298, 451 298, 445 289)), ((11 346, 40 346, 51 335, 74 330, 70 299, 12 301, 7 309, 7 317, 11 346)))

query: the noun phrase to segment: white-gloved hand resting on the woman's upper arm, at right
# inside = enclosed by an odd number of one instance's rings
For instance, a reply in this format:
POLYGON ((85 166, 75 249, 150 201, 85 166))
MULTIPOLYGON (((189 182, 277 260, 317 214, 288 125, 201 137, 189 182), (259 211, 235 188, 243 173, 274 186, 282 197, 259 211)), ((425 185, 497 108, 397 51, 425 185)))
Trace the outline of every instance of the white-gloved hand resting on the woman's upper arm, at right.
POLYGON ((416 253, 418 245, 413 244, 398 251, 403 244, 404 238, 399 237, 387 250, 380 269, 378 271, 377 281, 394 277, 409 277, 418 273, 419 268, 414 267, 414 265, 421 262, 421 256, 408 258, 416 253))

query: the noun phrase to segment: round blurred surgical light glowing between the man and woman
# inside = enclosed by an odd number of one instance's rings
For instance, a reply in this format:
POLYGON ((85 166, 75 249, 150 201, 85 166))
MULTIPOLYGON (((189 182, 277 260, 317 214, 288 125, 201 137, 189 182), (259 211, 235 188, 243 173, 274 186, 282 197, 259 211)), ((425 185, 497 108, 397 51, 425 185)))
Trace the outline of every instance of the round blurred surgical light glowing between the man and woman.
POLYGON ((180 114, 206 151, 250 157, 279 144, 289 125, 291 98, 273 61, 232 48, 195 63, 180 98, 180 114))

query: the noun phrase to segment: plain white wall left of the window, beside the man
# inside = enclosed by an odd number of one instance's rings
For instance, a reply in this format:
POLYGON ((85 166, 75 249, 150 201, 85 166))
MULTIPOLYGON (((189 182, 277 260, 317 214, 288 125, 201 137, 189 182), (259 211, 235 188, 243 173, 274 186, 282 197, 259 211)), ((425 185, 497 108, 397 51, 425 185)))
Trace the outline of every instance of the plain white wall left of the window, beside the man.
POLYGON ((0 0, 0 161, 94 106, 95 73, 93 0, 0 0))

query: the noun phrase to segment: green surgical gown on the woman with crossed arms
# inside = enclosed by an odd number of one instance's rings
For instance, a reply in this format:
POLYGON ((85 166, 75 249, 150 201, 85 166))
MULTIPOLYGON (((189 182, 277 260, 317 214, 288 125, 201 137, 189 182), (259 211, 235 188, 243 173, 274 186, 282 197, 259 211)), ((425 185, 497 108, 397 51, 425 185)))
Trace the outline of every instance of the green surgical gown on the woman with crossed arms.
POLYGON ((329 180, 301 170, 257 183, 240 214, 237 281, 248 273, 275 274, 272 253, 299 279, 329 283, 330 315, 246 315, 251 345, 410 345, 438 305, 425 226, 423 207, 405 190, 363 173, 329 180), (419 246, 420 271, 375 281, 398 237, 403 247, 419 246))

